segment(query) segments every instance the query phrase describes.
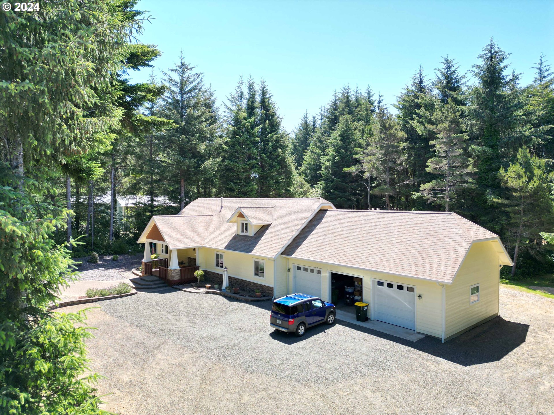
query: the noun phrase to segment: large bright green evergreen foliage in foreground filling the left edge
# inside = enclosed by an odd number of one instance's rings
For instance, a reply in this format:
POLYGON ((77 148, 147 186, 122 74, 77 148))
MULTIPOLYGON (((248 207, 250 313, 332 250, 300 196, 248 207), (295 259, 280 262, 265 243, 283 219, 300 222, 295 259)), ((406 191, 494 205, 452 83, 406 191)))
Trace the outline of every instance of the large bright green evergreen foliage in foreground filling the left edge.
POLYGON ((105 412, 85 358, 85 313, 48 310, 73 265, 52 239, 69 212, 51 203, 50 179, 121 116, 100 97, 140 29, 134 6, 43 2, 0 19, 0 405, 14 415, 105 412))

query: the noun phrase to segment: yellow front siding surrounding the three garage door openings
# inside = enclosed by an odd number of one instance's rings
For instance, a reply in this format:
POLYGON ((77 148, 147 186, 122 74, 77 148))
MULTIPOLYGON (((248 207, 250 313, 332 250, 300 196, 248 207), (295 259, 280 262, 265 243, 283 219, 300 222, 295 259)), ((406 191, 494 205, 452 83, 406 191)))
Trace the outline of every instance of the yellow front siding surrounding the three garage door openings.
POLYGON ((422 296, 422 299, 416 299, 416 331, 418 333, 429 334, 440 338, 442 336, 442 287, 437 283, 425 281, 416 278, 397 277, 392 274, 366 271, 363 269, 325 264, 322 262, 295 260, 289 258, 289 268, 291 272, 288 274, 289 292, 292 294, 294 290, 293 282, 293 264, 321 269, 321 297, 324 301, 330 301, 330 273, 338 272, 349 274, 363 278, 363 301, 370 304, 371 316, 371 279, 380 279, 383 281, 391 281, 399 284, 407 284, 416 287, 416 297, 422 296))

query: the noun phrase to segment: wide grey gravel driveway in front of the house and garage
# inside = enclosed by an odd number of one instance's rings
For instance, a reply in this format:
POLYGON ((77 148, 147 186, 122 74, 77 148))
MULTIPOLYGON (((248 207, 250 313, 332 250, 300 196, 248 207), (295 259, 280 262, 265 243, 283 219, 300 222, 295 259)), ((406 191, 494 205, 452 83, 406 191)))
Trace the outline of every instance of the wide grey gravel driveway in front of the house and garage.
MULTIPOLYGON (((337 321, 273 333, 270 302, 171 288, 90 312, 99 393, 122 415, 551 414, 554 300, 501 288, 501 318, 441 344, 337 321)), ((61 311, 77 310, 79 306, 61 311)))

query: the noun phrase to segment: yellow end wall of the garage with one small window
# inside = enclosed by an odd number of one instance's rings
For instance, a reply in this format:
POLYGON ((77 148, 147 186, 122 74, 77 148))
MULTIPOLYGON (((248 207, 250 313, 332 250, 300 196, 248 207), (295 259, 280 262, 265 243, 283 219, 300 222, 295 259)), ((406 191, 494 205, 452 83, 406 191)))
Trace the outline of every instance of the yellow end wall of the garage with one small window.
POLYGON ((446 286, 446 337, 498 313, 499 257, 494 242, 475 242, 454 278, 446 286), (469 287, 480 285, 480 300, 469 304, 469 287))

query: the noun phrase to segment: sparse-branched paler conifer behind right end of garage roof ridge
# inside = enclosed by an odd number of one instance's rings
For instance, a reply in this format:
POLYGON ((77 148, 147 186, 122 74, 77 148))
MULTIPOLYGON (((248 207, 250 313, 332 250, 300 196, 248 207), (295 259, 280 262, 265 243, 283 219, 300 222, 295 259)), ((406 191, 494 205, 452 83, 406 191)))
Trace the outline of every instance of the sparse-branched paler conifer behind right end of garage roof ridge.
POLYGON ((468 135, 461 131, 461 110, 452 98, 446 105, 439 103, 432 116, 431 129, 436 135, 429 144, 433 146, 434 157, 427 162, 427 171, 438 176, 429 183, 422 184, 421 192, 425 199, 450 210, 460 189, 471 186, 471 173, 475 169, 466 156, 468 135))

